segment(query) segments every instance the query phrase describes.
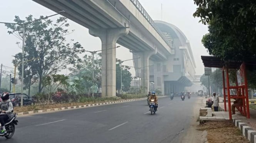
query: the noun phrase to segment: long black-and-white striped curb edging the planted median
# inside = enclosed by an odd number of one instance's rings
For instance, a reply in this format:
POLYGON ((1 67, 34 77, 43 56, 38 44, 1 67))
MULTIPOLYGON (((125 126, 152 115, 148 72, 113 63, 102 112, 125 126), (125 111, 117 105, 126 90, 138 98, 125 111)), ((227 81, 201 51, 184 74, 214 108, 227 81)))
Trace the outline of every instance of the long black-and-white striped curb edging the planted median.
MULTIPOLYGON (((158 96, 158 98, 165 98, 165 97, 168 97, 168 96, 158 96)), ((37 113, 52 112, 52 111, 81 109, 81 108, 87 108, 87 107, 104 106, 104 105, 109 105, 109 104, 120 104, 120 103, 124 103, 124 102, 141 101, 141 100, 146 100, 146 99, 147 98, 138 98, 138 99, 129 99, 129 100, 124 100, 124 101, 112 101, 112 102, 103 102, 103 103, 95 103, 95 104, 85 104, 85 105, 79 105, 79 106, 61 107, 61 108, 54 108, 54 109, 35 110, 35 111, 28 111, 28 112, 19 112, 19 113, 17 113, 17 115, 30 115, 30 114, 37 114, 37 113)))

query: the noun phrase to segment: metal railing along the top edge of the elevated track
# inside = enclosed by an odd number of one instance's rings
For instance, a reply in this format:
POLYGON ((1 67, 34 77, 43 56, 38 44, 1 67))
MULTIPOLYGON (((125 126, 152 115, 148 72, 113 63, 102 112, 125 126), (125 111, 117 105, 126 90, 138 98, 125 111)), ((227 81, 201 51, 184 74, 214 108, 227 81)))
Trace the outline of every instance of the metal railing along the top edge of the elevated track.
POLYGON ((172 41, 167 39, 165 34, 157 27, 156 23, 152 20, 152 18, 149 16, 147 11, 142 7, 141 3, 139 3, 139 0, 130 0, 137 9, 141 12, 141 14, 146 18, 146 20, 151 24, 151 26, 157 31, 157 33, 162 37, 162 39, 166 42, 166 44, 172 48, 172 41))

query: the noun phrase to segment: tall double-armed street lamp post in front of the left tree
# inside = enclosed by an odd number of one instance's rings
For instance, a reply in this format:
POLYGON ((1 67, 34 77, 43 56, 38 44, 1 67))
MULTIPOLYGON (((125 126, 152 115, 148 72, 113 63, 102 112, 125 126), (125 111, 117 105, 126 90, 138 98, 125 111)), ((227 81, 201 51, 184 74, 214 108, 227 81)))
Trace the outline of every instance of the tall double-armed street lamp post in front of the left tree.
MULTIPOLYGON (((39 20, 43 20, 45 18, 49 18, 49 17, 52 17, 52 16, 55 16, 55 15, 59 15, 60 13, 62 12, 65 12, 64 10, 62 11, 59 11, 58 13, 54 14, 54 15, 50 15, 50 16, 45 16, 43 18, 40 18, 38 20, 34 20, 34 21, 30 21, 30 22, 27 22, 27 23, 6 23, 6 22, 0 22, 0 23, 3 23, 3 24, 18 24, 18 25, 22 25, 22 28, 23 28, 23 33, 22 33, 22 71, 21 71, 21 93, 23 93, 23 76, 24 76, 24 47, 25 47, 25 25, 26 24, 29 24, 29 23, 33 23, 35 21, 39 21, 39 20)), ((23 106, 23 96, 21 96, 21 99, 20 99, 20 106, 23 106)))

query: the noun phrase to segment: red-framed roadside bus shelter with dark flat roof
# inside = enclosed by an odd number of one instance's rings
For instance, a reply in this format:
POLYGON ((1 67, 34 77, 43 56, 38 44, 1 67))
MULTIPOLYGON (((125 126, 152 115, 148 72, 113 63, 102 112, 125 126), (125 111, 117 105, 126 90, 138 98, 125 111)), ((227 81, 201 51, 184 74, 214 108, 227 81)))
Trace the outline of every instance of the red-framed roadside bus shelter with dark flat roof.
POLYGON ((248 99, 248 83, 246 77, 246 67, 251 65, 255 65, 256 62, 224 62, 218 57, 213 56, 201 56, 202 62, 204 63, 204 67, 210 68, 222 68, 222 78, 223 78, 223 95, 224 95, 224 110, 227 111, 226 106, 226 98, 228 99, 228 111, 229 111, 229 119, 232 120, 231 114, 231 99, 234 98, 242 98, 243 105, 237 107, 239 112, 250 118, 250 110, 249 110, 249 99, 248 99), (236 85, 231 86, 229 84, 229 69, 235 69, 236 76, 236 85), (226 85, 225 85, 225 73, 226 73, 226 85), (235 95, 231 95, 231 90, 235 91, 235 95), (240 96, 239 96, 240 95, 240 96))

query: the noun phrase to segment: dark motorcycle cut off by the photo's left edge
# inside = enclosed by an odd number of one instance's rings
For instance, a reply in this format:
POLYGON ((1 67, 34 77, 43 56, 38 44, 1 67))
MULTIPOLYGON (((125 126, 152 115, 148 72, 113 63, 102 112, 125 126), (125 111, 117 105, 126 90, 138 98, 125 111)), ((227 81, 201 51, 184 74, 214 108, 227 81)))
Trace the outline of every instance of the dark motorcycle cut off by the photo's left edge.
POLYGON ((7 120, 7 123, 5 123, 5 129, 6 129, 6 132, 4 135, 1 135, 1 136, 4 136, 5 138, 9 139, 9 138, 12 138, 14 132, 15 132, 15 125, 18 125, 18 120, 15 120, 17 117, 17 114, 14 113, 8 120, 7 120))

